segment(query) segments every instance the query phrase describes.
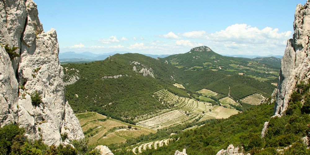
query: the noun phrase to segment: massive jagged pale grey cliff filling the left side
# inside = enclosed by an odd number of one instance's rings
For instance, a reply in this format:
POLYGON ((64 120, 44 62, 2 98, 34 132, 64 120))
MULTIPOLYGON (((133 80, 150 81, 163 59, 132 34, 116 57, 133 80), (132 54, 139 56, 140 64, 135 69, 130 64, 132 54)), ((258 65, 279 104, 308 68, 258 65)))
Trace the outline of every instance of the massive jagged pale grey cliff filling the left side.
POLYGON ((2 0, 0 14, 0 126, 18 123, 29 138, 48 145, 84 138, 64 98, 56 31, 43 31, 32 0, 2 0), (5 45, 18 47, 20 56, 10 59, 5 45), (34 94, 41 96, 39 104, 32 103, 34 94))

